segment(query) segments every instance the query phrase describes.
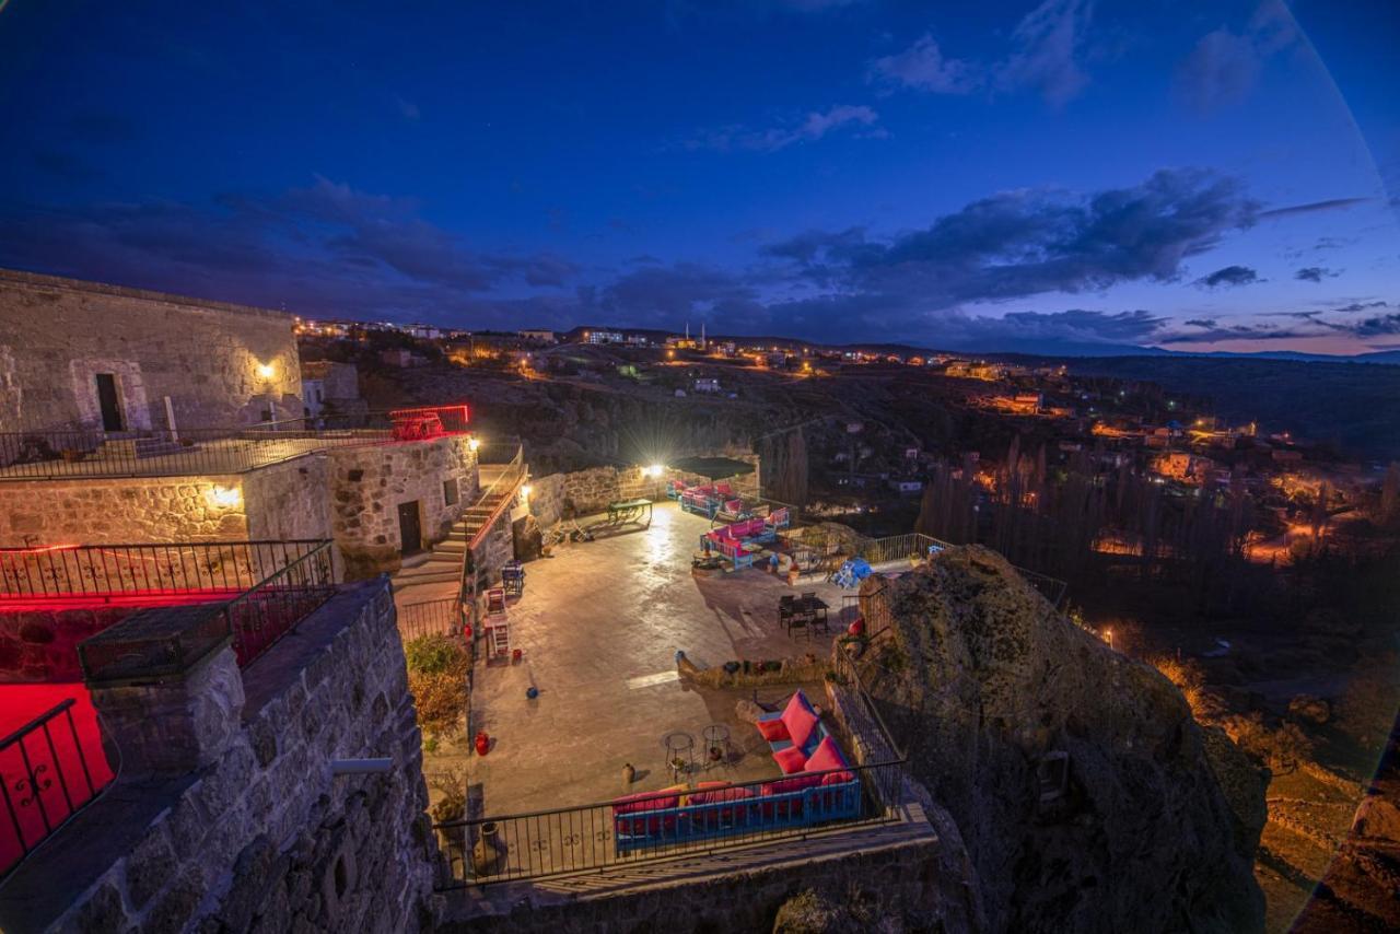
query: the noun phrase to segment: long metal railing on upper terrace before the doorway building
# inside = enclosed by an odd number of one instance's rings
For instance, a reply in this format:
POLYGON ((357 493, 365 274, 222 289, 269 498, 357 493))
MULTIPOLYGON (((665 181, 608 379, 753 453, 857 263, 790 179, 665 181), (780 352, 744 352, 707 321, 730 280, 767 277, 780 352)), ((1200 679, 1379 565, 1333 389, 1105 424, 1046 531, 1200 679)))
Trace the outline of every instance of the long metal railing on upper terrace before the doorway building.
POLYGON ((307 416, 232 427, 0 433, 0 480, 245 473, 329 448, 466 431, 466 406, 307 416))

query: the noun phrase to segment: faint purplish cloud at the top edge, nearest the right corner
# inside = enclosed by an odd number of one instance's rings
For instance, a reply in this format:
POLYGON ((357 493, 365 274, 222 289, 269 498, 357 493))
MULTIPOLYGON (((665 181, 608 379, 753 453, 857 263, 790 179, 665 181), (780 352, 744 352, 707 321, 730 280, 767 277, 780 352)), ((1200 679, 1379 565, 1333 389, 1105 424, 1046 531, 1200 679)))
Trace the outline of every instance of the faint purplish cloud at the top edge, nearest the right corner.
POLYGON ((1281 0, 1264 0, 1240 32, 1219 28, 1201 36, 1177 66, 1177 91, 1201 113, 1243 104, 1264 63, 1296 38, 1292 14, 1281 0))

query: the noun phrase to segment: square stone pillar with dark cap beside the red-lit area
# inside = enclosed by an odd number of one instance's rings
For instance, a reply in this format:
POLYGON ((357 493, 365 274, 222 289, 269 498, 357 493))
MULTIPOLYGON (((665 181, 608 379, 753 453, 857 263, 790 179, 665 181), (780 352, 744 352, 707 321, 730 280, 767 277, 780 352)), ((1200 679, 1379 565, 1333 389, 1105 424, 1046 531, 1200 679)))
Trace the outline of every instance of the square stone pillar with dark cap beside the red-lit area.
POLYGON ((127 616, 80 646, 92 706, 122 780, 188 774, 238 735, 244 679, 210 606, 127 616))

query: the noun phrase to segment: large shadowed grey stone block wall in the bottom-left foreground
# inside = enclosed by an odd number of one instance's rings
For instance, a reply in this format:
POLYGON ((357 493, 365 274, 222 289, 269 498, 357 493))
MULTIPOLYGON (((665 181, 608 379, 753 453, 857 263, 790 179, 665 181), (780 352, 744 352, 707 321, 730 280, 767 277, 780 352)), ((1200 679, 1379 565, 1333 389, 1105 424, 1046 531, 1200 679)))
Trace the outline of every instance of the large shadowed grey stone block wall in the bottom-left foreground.
MULTIPOLYGON (((132 741, 143 745, 123 746, 118 783, 7 879, 0 928, 431 927, 438 856, 388 583, 342 590, 242 682, 228 648, 199 664, 232 672, 186 679, 217 690, 206 717, 232 724, 209 765, 133 774, 132 763, 161 762, 146 748, 179 714, 157 703, 154 728, 132 741), (392 759, 388 774, 330 774, 333 759, 379 756, 392 759)), ((169 686, 94 686, 94 704, 111 725, 157 690, 169 686)))

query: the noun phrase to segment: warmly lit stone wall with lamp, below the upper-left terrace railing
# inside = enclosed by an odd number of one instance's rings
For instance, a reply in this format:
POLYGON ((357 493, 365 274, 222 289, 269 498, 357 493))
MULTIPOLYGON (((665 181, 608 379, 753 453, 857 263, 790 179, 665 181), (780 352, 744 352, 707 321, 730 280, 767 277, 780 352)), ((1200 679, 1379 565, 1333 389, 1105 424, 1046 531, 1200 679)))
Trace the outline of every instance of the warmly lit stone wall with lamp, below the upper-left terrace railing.
POLYGON ((0 546, 242 541, 246 499, 224 506, 216 487, 239 476, 0 483, 0 546))

